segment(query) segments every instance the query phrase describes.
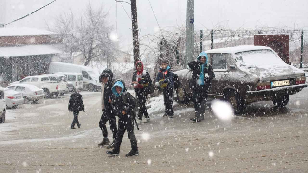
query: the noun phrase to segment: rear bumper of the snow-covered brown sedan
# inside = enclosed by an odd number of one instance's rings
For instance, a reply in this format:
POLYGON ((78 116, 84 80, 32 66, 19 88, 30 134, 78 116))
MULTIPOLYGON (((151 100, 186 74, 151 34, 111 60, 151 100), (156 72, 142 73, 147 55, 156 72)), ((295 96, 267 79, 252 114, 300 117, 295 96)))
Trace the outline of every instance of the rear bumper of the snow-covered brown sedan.
POLYGON ((249 103, 262 100, 272 100, 275 96, 279 95, 294 95, 305 87, 307 87, 307 83, 277 87, 260 91, 247 91, 245 101, 249 103))

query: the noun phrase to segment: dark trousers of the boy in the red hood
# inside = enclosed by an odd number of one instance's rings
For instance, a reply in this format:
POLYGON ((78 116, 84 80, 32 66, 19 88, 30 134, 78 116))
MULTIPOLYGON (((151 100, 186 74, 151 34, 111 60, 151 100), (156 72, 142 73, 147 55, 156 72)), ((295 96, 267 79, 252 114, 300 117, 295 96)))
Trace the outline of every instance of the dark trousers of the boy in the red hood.
POLYGON ((144 115, 144 118, 150 118, 148 115, 147 108, 145 107, 145 102, 147 101, 148 94, 146 94, 144 89, 135 89, 135 92, 139 104, 138 119, 142 120, 142 115, 144 115))

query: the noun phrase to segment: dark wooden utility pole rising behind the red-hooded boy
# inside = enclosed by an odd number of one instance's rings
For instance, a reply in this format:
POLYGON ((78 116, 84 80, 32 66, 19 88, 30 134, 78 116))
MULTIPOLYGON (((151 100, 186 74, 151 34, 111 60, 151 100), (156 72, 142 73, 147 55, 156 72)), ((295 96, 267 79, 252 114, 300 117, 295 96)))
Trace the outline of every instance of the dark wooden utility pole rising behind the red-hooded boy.
POLYGON ((131 8, 132 8, 134 64, 136 64, 136 62, 140 60, 136 0, 131 0, 131 8))

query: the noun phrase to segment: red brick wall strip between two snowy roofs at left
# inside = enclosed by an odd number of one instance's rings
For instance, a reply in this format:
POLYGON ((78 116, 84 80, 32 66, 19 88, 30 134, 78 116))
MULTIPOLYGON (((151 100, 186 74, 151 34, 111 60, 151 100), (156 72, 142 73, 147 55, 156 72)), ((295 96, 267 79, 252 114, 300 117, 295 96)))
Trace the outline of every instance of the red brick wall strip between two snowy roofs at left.
POLYGON ((53 35, 0 36, 0 47, 33 44, 60 44, 62 40, 53 35))

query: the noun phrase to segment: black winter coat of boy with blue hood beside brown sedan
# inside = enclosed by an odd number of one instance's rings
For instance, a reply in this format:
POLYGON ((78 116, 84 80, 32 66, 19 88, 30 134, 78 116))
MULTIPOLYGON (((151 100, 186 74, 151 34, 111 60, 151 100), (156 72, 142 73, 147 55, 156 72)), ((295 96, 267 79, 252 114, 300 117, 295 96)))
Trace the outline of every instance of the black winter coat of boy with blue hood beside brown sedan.
MULTIPOLYGON (((193 71, 193 76, 191 78, 191 85, 190 87, 195 87, 197 85, 197 80, 200 77, 200 69, 201 69, 201 62, 200 61, 191 61, 188 63, 189 68, 193 71)), ((213 72, 213 68, 211 64, 208 64, 208 68, 204 68, 203 74, 209 74, 209 77, 204 77, 204 84, 206 87, 211 86, 211 80, 215 78, 215 74, 213 72)))

